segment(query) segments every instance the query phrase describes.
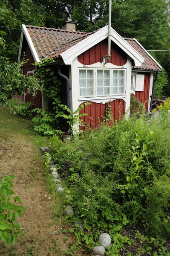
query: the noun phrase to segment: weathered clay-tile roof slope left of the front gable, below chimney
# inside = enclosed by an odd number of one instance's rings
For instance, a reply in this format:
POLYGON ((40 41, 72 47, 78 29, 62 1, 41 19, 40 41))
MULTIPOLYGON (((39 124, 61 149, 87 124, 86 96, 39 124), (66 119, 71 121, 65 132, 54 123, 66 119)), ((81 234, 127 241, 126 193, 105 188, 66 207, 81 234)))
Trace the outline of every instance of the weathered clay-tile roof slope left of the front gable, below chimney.
MULTIPOLYGON (((53 29, 40 26, 27 26, 27 31, 37 52, 38 58, 43 59, 56 49, 72 41, 86 38, 89 33, 53 29)), ((67 48, 68 49, 68 48, 67 48)))

